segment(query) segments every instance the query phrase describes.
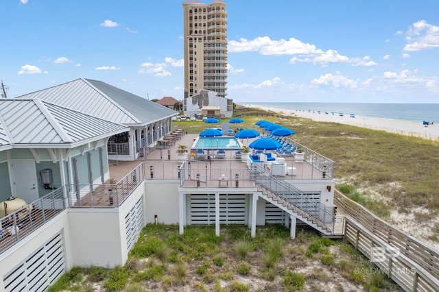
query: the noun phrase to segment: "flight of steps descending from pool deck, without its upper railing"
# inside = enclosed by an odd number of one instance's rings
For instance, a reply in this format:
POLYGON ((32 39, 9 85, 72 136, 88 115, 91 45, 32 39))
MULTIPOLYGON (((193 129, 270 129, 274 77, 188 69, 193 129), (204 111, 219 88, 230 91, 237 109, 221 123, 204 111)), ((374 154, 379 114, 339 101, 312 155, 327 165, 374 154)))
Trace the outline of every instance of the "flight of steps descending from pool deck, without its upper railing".
POLYGON ((281 208, 282 210, 287 212, 289 215, 292 215, 292 216, 296 217, 297 219, 300 219, 300 221, 307 223, 307 225, 318 230, 322 234, 332 235, 334 233, 333 223, 324 223, 322 220, 308 214, 304 210, 302 210, 302 209, 298 208, 296 205, 292 204, 292 202, 288 202, 287 199, 284 199, 280 195, 276 195, 275 193, 270 191, 268 188, 265 188, 264 186, 262 186, 260 184, 257 185, 257 189, 259 191, 260 197, 262 197, 266 201, 274 204, 274 206, 281 208))

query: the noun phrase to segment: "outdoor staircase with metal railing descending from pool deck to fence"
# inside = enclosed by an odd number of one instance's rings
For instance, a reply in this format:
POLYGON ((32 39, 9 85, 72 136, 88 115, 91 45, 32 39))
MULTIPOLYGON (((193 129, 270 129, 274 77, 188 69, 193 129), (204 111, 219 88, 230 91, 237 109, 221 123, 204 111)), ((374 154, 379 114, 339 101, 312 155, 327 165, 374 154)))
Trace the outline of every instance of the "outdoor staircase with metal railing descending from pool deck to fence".
POLYGON ((331 236, 337 233, 333 208, 310 200, 306 193, 289 182, 278 180, 265 171, 255 173, 254 177, 260 197, 318 230, 322 235, 331 236))

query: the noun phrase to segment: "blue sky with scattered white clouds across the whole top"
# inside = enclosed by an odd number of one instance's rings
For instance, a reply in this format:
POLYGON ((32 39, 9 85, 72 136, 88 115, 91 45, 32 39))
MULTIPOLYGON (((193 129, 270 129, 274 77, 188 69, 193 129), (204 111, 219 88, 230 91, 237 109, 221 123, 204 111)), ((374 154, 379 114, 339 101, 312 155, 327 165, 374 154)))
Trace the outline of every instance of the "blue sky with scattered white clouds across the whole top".
MULTIPOLYGON (((225 2, 237 103, 439 103, 437 0, 225 2)), ((182 1, 1 4, 8 97, 85 77, 182 99, 182 1)))

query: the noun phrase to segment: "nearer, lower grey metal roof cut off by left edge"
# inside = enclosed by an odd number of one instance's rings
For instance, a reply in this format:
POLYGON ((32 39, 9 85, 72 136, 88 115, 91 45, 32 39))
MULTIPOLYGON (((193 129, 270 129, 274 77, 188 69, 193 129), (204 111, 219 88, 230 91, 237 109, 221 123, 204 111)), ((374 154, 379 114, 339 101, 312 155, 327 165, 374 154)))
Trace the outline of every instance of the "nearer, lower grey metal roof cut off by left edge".
POLYGON ((0 99, 0 124, 0 149, 72 148, 128 130, 39 99, 0 99))

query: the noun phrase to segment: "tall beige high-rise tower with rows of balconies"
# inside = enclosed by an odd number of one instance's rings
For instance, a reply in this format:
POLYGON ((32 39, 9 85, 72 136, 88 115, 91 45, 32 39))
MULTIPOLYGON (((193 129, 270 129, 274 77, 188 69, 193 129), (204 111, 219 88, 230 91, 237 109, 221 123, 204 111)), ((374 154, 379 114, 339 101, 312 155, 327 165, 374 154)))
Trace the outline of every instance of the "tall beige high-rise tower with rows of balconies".
POLYGON ((185 1, 185 98, 213 90, 226 97, 227 12, 226 3, 185 1))

